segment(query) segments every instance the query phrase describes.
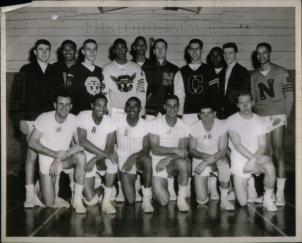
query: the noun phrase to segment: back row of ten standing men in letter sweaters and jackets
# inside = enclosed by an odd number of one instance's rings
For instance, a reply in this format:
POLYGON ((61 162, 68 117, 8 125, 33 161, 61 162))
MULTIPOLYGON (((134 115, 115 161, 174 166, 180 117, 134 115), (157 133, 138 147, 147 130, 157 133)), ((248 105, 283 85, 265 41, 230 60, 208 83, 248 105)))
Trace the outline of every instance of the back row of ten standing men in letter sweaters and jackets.
MULTIPOLYGON (((20 104, 21 112, 24 114, 24 120, 20 121, 20 129, 28 138, 37 115, 51 110, 53 95, 57 90, 64 88, 72 99, 73 112, 76 115, 90 109, 92 97, 103 93, 108 99, 109 114, 124 113, 124 105, 128 98, 133 96, 139 98, 142 103, 140 115, 147 121, 165 115, 165 100, 168 96, 176 95, 179 97, 178 114, 183 116, 183 120, 188 124, 198 121, 200 110, 196 108, 206 101, 214 105, 213 110, 217 111, 215 115, 218 118, 228 118, 238 111, 236 93, 251 89, 255 111, 260 116, 268 116, 267 128, 271 136, 267 136, 273 147, 270 155, 276 163, 279 185, 277 202, 285 203, 282 138, 286 118, 293 102, 287 71, 271 63, 271 46, 267 43, 260 43, 256 48, 261 66, 252 74, 251 79, 248 71, 236 62, 238 50, 235 43, 226 43, 223 49, 212 48, 211 66, 201 62, 202 46, 201 40, 191 40, 188 48, 191 63, 179 69, 165 58, 167 53, 165 40, 155 41, 153 52, 156 60, 153 62, 146 58, 148 46, 145 38, 137 37, 133 45, 136 58, 129 61, 126 57, 127 44, 125 40, 119 38, 113 43, 116 59, 106 64, 102 70, 93 64, 98 53, 94 40, 88 39, 83 43, 82 63, 75 57, 76 44, 71 40, 64 41, 61 45, 64 60, 53 65, 47 62, 50 57, 50 43, 47 40, 38 40, 34 50, 37 62, 24 65, 20 69, 20 73, 24 73, 25 84, 21 86, 25 87, 25 102, 20 104)), ((32 161, 36 157, 37 154, 29 149, 25 164, 28 169, 26 184, 30 191, 33 187, 32 161)))

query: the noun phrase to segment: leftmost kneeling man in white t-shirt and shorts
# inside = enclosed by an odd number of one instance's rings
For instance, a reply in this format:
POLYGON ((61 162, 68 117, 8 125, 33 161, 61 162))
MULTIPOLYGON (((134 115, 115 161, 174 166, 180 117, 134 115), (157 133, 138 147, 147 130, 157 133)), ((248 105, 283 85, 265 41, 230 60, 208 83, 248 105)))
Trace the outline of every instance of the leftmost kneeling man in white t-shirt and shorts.
POLYGON ((41 205, 41 200, 45 206, 53 206, 56 176, 62 169, 75 168, 76 183, 72 206, 77 213, 85 213, 86 208, 81 197, 86 157, 82 152, 84 148, 78 143, 76 116, 69 114, 72 108, 71 98, 66 94, 58 94, 53 105, 55 111, 42 113, 34 121, 35 128, 28 142, 29 146, 39 153, 40 182, 35 185, 34 199, 38 201, 38 205, 41 205), (69 148, 72 137, 77 144, 69 148))

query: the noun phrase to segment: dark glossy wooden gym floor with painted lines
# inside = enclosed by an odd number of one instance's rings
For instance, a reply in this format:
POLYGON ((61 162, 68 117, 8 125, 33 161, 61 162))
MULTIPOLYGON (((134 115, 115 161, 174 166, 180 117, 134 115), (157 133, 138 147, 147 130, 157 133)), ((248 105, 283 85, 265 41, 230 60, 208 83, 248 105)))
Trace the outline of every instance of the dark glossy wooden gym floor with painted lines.
MULTIPOLYGON (((196 202, 194 188, 187 201, 189 212, 179 212, 175 201, 159 206, 154 200, 153 213, 144 213, 141 202, 127 205, 113 202, 117 213, 108 215, 101 203, 86 206, 85 214, 73 208, 53 209, 23 207, 25 181, 22 176, 7 176, 6 236, 10 237, 267 237, 296 236, 295 171, 287 171, 285 206, 269 212, 262 204, 248 203, 235 210, 225 211, 219 200, 196 202)), ((257 192, 261 193, 263 177, 255 178, 257 192)), ((176 180, 175 180, 176 182, 176 180)), ((193 181, 191 181, 193 185, 193 181)), ((59 196, 70 200, 68 176, 61 173, 59 196)), ((189 240, 189 239, 188 239, 189 240)))

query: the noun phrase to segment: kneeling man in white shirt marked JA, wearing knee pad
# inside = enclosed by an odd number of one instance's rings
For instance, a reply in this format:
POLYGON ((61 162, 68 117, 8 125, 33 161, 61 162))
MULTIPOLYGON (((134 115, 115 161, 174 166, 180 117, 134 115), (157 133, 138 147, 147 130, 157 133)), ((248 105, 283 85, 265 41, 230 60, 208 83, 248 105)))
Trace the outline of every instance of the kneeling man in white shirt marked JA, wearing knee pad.
POLYGON ((214 118, 215 115, 214 106, 203 103, 199 107, 201 120, 196 121, 189 128, 189 154, 193 158, 192 170, 196 200, 200 204, 208 201, 207 180, 210 172, 217 176, 218 171, 220 207, 232 210, 234 206, 227 199, 231 175, 228 160, 225 157, 228 129, 224 121, 214 118))

